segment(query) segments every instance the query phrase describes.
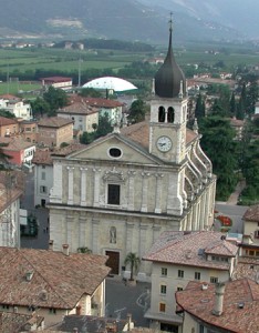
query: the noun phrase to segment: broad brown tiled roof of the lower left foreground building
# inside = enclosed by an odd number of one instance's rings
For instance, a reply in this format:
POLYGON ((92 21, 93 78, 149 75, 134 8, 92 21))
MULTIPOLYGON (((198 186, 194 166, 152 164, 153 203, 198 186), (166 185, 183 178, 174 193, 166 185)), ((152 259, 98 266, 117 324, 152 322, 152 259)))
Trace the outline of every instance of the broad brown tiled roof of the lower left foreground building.
POLYGON ((0 304, 73 309, 107 276, 106 260, 104 255, 0 248, 0 304), (28 272, 33 272, 30 281, 28 272))

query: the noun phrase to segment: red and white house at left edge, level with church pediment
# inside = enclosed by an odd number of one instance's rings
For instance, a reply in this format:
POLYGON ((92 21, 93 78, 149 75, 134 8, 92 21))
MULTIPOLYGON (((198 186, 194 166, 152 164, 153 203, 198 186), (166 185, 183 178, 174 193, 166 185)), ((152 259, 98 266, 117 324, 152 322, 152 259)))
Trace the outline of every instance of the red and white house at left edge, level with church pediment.
POLYGON ((10 157, 9 163, 18 167, 25 165, 31 168, 31 161, 35 151, 35 144, 23 141, 20 137, 0 138, 0 143, 7 144, 2 147, 6 154, 10 157))

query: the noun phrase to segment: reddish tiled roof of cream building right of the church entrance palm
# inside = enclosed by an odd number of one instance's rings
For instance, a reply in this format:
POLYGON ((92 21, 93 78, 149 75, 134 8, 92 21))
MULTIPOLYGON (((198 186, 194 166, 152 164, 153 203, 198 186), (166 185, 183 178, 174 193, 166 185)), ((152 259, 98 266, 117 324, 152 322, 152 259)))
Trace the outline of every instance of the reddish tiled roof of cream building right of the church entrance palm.
POLYGON ((169 264, 229 270, 228 262, 207 260, 204 255, 207 251, 219 256, 237 255, 238 246, 222 239, 222 235, 214 231, 164 232, 143 259, 169 264))

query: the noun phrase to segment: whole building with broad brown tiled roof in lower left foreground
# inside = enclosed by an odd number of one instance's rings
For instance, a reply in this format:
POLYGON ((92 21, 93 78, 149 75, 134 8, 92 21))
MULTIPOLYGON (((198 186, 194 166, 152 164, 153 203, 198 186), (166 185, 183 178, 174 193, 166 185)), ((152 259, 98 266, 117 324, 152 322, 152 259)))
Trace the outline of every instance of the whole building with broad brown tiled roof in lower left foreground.
POLYGON ((45 326, 64 315, 104 315, 107 258, 63 251, 0 248, 2 312, 35 313, 45 326))

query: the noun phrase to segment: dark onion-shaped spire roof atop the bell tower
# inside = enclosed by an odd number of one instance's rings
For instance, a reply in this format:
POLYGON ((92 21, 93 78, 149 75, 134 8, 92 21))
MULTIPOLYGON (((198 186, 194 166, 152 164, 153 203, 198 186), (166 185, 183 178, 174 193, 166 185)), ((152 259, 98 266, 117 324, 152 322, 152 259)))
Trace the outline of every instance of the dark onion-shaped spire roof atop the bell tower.
POLYGON ((155 93, 160 98, 177 98, 179 93, 186 94, 185 75, 176 63, 173 52, 172 30, 170 27, 166 59, 155 75, 155 93))

